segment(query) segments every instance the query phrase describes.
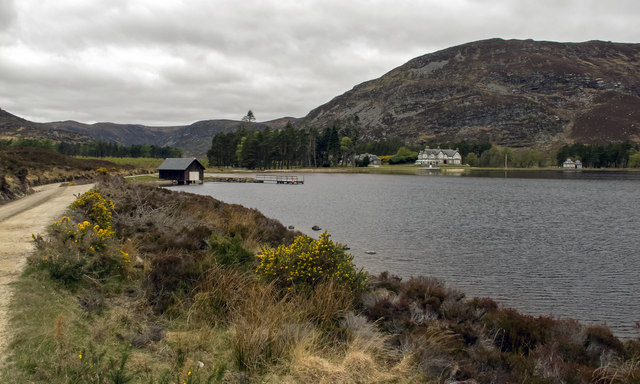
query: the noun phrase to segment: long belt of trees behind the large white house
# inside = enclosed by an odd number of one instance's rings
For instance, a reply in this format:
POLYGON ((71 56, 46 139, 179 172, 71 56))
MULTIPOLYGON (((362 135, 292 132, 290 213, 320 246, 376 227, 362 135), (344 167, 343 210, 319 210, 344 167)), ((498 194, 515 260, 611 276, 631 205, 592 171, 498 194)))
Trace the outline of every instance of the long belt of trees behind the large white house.
POLYGON ((284 129, 253 131, 241 127, 235 132, 219 133, 207 152, 213 167, 278 169, 295 167, 333 167, 358 165, 356 154, 371 153, 389 164, 413 163, 418 152, 431 148, 457 149, 463 162, 476 167, 503 167, 505 156, 510 167, 546 167, 555 165, 555 157, 532 149, 510 149, 489 143, 428 142, 408 145, 398 138, 378 142, 360 139, 357 116, 335 123, 324 130, 284 129))

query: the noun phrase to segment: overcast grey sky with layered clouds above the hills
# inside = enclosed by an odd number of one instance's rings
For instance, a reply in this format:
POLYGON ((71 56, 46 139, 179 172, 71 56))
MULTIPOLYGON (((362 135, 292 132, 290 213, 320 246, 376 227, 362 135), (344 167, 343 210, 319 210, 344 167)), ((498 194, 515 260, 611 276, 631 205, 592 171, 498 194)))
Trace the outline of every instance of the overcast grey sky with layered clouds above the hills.
POLYGON ((637 0, 0 0, 0 108, 36 122, 303 117, 488 38, 640 43, 637 0))

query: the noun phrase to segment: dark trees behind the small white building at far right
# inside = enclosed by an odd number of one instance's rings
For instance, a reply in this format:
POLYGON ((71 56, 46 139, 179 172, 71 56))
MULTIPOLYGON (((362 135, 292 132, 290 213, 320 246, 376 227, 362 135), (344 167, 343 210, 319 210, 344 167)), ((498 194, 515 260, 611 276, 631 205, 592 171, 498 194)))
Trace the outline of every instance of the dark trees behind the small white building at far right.
POLYGON ((556 155, 558 165, 571 158, 580 160, 587 168, 627 168, 640 167, 638 146, 626 141, 602 145, 564 145, 556 155))

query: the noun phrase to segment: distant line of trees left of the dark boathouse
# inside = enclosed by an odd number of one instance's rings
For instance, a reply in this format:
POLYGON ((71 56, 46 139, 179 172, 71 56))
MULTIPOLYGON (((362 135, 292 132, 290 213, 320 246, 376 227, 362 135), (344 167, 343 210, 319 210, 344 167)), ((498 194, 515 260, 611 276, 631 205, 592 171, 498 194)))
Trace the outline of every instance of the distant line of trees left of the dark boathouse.
POLYGON ((88 156, 88 157, 181 157, 182 151, 177 148, 159 147, 157 145, 121 145, 106 141, 95 141, 84 144, 58 143, 51 140, 0 140, 1 146, 12 147, 39 147, 56 151, 68 156, 88 156))

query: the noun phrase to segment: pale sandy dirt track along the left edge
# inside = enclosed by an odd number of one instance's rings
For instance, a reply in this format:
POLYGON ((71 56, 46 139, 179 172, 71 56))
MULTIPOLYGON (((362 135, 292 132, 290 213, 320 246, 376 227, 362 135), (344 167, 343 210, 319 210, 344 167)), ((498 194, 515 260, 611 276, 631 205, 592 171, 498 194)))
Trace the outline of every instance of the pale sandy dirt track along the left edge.
POLYGON ((0 206, 0 366, 5 361, 10 335, 7 329, 12 296, 9 284, 20 276, 32 251, 31 234, 44 234, 47 226, 73 202, 74 194, 91 187, 93 185, 50 184, 37 188, 37 193, 0 206))

